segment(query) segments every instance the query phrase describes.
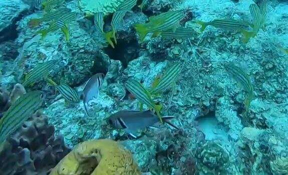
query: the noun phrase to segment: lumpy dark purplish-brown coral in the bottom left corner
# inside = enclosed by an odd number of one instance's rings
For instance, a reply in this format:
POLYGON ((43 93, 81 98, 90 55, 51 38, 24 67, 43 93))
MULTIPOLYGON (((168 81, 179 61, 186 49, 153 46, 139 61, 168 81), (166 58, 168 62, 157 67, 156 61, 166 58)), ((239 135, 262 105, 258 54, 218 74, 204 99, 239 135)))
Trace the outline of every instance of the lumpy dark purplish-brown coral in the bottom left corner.
POLYGON ((47 174, 70 149, 40 112, 19 128, 0 152, 0 174, 47 174))

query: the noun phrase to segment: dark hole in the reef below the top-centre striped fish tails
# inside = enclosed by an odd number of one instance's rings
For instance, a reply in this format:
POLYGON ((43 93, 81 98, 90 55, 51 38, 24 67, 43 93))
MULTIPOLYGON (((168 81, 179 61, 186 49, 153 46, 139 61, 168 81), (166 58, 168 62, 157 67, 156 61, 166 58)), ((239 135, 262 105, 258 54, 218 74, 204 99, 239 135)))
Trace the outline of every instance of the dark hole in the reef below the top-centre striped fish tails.
POLYGON ((111 45, 104 48, 106 54, 109 55, 111 59, 120 60, 124 68, 127 67, 129 61, 137 58, 139 56, 139 44, 135 38, 129 40, 117 39, 117 44, 115 48, 111 45))

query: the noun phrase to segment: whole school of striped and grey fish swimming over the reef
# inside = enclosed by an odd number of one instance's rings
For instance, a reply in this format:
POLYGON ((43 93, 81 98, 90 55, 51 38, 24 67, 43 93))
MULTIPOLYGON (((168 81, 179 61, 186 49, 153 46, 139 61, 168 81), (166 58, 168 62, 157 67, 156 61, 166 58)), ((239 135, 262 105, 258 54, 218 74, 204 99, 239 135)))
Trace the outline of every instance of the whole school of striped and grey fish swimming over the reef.
MULTIPOLYGON (((70 40, 69 25, 71 22, 77 19, 80 15, 78 12, 72 12, 71 9, 63 7, 65 0, 44 0, 43 17, 33 18, 29 21, 31 27, 42 27, 47 25, 48 27, 42 28, 37 31, 36 34, 41 34, 42 39, 45 38, 50 32, 55 32, 58 29, 64 33, 64 37, 67 42, 70 40)), ((103 11, 96 12, 94 14, 94 25, 96 31, 99 32, 106 41, 115 48, 117 44, 117 31, 124 23, 124 18, 127 12, 133 12, 133 8, 136 6, 137 0, 124 0, 113 12, 111 18, 111 30, 106 30, 106 17, 109 14, 103 11)), ((143 10, 148 5, 148 0, 142 0, 138 6, 143 10)), ((213 19, 205 22, 197 20, 195 21, 200 25, 200 32, 203 32, 207 26, 213 26, 215 28, 228 29, 233 31, 239 31, 243 33, 244 39, 249 39, 256 35, 260 29, 265 28, 265 18, 268 12, 267 4, 263 1, 261 4, 253 3, 249 7, 250 14, 252 16, 252 22, 244 20, 236 20, 233 18, 221 18, 213 19), (250 29, 252 28, 252 30, 250 29)), ((140 41, 144 41, 145 37, 150 33, 151 37, 161 36, 166 39, 171 38, 191 38, 197 36, 197 32, 189 27, 184 27, 180 24, 180 21, 185 17, 184 10, 171 10, 160 13, 158 15, 152 15, 146 23, 134 24, 134 29, 139 37, 140 41)), ((108 121, 114 127, 118 129, 124 129, 127 133, 137 138, 134 132, 138 129, 152 126, 153 124, 160 122, 167 122, 174 128, 178 129, 168 120, 173 119, 174 116, 162 116, 161 110, 163 110, 162 104, 155 99, 155 96, 174 88, 177 78, 181 74, 181 62, 173 63, 166 68, 163 74, 155 77, 150 87, 145 87, 138 80, 130 77, 125 82, 126 89, 136 97, 139 102, 140 110, 121 110, 109 116, 108 121), (143 110, 144 105, 146 109, 143 110), (156 114, 155 114, 156 113, 156 114)), ((84 110, 87 116, 91 116, 89 103, 93 99, 97 99, 100 94, 100 89, 105 79, 105 74, 96 73, 88 79, 84 89, 77 91, 67 83, 56 83, 50 78, 51 72, 56 72, 61 69, 60 61, 51 59, 38 63, 31 72, 25 75, 23 86, 33 87, 39 81, 46 81, 53 86, 58 93, 69 103, 79 103, 83 100, 84 110), (81 98, 82 96, 82 98, 81 98)), ((229 74, 239 83, 239 86, 245 91, 245 109, 248 110, 250 101, 253 99, 253 85, 250 77, 242 70, 233 64, 225 65, 225 68, 229 74)), ((25 89, 24 89, 25 90, 25 89)), ((34 112, 41 108, 42 103, 42 91, 34 90, 21 95, 16 99, 9 110, 0 119, 0 143, 17 130, 34 112)))

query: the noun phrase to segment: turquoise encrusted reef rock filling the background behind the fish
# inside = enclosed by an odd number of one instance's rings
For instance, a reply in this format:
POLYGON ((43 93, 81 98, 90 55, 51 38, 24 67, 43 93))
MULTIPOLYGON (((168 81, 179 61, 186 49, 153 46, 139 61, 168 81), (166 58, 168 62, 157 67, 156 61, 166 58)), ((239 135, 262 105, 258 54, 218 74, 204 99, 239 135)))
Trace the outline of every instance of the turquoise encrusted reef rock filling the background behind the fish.
MULTIPOLYGON (((68 42, 60 30, 41 39, 37 32, 48 23, 36 28, 28 23, 32 18, 43 17, 44 12, 38 7, 31 10, 34 0, 24 1, 26 4, 20 0, 0 2, 0 9, 4 8, 0 16, 1 112, 10 105, 10 94, 4 89, 10 92, 16 83, 23 83, 25 74, 39 62, 57 59, 60 68, 51 71, 50 78, 57 84, 64 81, 79 92, 92 75, 105 74, 98 98, 90 101, 91 116, 85 114, 82 102, 65 104, 45 80, 26 89, 44 92, 43 112, 55 126, 55 135, 62 134, 71 147, 89 139, 121 140, 132 151, 140 169, 148 174, 288 173, 288 4, 283 0, 267 1, 265 29, 258 29, 247 43, 242 41, 241 32, 214 26, 201 31, 197 22, 232 18, 251 23, 249 6, 256 0, 143 0, 146 5, 142 8, 137 6, 142 2, 138 0, 117 28, 115 48, 97 31, 92 15, 104 11, 104 31, 110 31, 112 15, 122 0, 66 0, 63 6, 77 12, 76 20, 69 24, 68 42), (29 8, 31 14, 26 13, 29 8), (191 37, 164 38, 150 33, 144 41, 139 39, 135 24, 175 10, 185 12, 179 26, 191 29, 191 37), (130 139, 123 130, 109 125, 110 114, 139 109, 137 99, 125 88, 127 79, 134 78, 149 88, 155 77, 177 62, 182 64, 182 70, 175 83, 153 99, 163 105, 161 115, 175 116, 171 123, 179 130, 166 124, 155 125, 160 129, 147 128, 140 139, 130 139), (249 107, 243 105, 246 91, 230 76, 229 63, 249 76, 253 85, 249 107)), ((22 143, 20 147, 24 146, 22 143)), ((58 143, 62 145, 61 141, 58 143)), ((74 152, 85 144, 67 157, 81 158, 74 152)), ((31 151, 24 146, 10 152, 12 157, 25 157, 28 149, 31 151)), ((96 160, 98 155, 95 156, 88 157, 96 160)), ((28 159, 29 164, 35 164, 34 157, 28 159)), ((24 166, 24 161, 17 161, 24 166)), ((55 163, 45 165, 43 172, 55 163)), ((93 163, 96 166, 96 161, 93 163)), ((56 172, 61 170, 61 164, 55 173, 61 172, 56 172)))

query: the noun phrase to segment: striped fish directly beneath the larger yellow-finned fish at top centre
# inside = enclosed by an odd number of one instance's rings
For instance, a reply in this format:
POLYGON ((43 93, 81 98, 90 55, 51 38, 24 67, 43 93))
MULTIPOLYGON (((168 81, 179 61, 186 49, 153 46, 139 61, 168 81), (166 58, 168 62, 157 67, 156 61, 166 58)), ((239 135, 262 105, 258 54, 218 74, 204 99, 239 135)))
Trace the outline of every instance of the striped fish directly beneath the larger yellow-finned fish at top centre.
POLYGON ((161 36, 164 38, 190 38, 196 36, 196 31, 191 28, 177 27, 175 31, 162 31, 161 36))

